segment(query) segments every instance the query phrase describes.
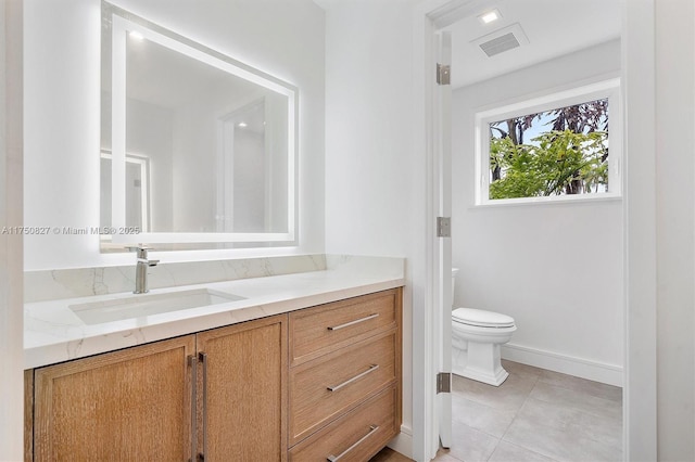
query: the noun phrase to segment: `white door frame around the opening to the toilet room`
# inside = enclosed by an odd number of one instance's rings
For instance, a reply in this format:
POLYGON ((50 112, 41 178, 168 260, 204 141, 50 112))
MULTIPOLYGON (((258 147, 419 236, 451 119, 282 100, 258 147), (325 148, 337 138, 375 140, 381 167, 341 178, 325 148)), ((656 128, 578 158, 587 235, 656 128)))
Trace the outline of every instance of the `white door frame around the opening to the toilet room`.
MULTIPOLYGON (((482 0, 421 0, 414 7, 414 85, 416 146, 426 164, 425 303, 414 310, 413 458, 429 461, 439 446, 434 377, 439 365, 434 309, 438 306, 438 259, 433 220, 439 209, 433 130, 434 40, 443 17, 458 20, 482 0), (418 377, 418 378, 415 378, 418 377)), ((622 0, 621 92, 624 105, 623 145, 623 459, 656 460, 656 79, 655 0, 622 0), (632 187, 634 182, 635 187, 632 187)))

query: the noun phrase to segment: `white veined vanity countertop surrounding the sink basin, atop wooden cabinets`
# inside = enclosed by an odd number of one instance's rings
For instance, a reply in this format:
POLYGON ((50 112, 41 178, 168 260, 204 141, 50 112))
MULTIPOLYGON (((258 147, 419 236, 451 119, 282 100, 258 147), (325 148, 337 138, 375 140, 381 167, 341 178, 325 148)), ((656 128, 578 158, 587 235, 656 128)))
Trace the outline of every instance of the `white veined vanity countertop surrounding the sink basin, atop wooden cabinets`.
POLYGON ((38 368, 402 285, 401 265, 400 270, 391 267, 365 271, 358 266, 348 266, 157 288, 150 294, 205 287, 244 299, 93 325, 83 322, 70 307, 134 295, 125 293, 30 303, 24 306, 24 367, 38 368))

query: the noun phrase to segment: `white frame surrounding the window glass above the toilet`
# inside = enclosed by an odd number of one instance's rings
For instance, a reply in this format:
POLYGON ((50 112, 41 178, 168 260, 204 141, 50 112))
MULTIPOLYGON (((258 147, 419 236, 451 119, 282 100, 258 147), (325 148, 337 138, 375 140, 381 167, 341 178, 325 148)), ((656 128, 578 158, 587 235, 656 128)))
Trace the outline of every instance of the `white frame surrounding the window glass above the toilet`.
POLYGON ((534 204, 619 198, 622 195, 622 107, 620 78, 555 91, 542 97, 476 113, 476 206, 534 204), (490 198, 490 124, 527 114, 608 99, 608 191, 604 193, 564 194, 541 197, 490 198))

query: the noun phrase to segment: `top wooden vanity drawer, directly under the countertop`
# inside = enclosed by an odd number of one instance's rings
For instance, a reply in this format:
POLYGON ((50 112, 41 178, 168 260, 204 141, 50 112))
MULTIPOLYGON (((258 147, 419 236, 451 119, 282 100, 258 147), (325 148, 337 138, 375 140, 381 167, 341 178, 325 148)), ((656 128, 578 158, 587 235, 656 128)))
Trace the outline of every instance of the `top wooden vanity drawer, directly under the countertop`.
POLYGON ((290 313, 291 364, 395 328, 400 294, 384 291, 290 313))

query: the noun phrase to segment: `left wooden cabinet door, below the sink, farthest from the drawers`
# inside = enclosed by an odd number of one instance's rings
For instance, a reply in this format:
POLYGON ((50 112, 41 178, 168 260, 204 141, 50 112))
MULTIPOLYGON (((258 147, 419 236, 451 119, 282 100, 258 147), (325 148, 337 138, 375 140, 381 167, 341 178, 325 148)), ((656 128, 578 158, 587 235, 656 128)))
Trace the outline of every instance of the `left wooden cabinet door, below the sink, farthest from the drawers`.
POLYGON ((195 337, 35 371, 35 460, 184 461, 195 337))

